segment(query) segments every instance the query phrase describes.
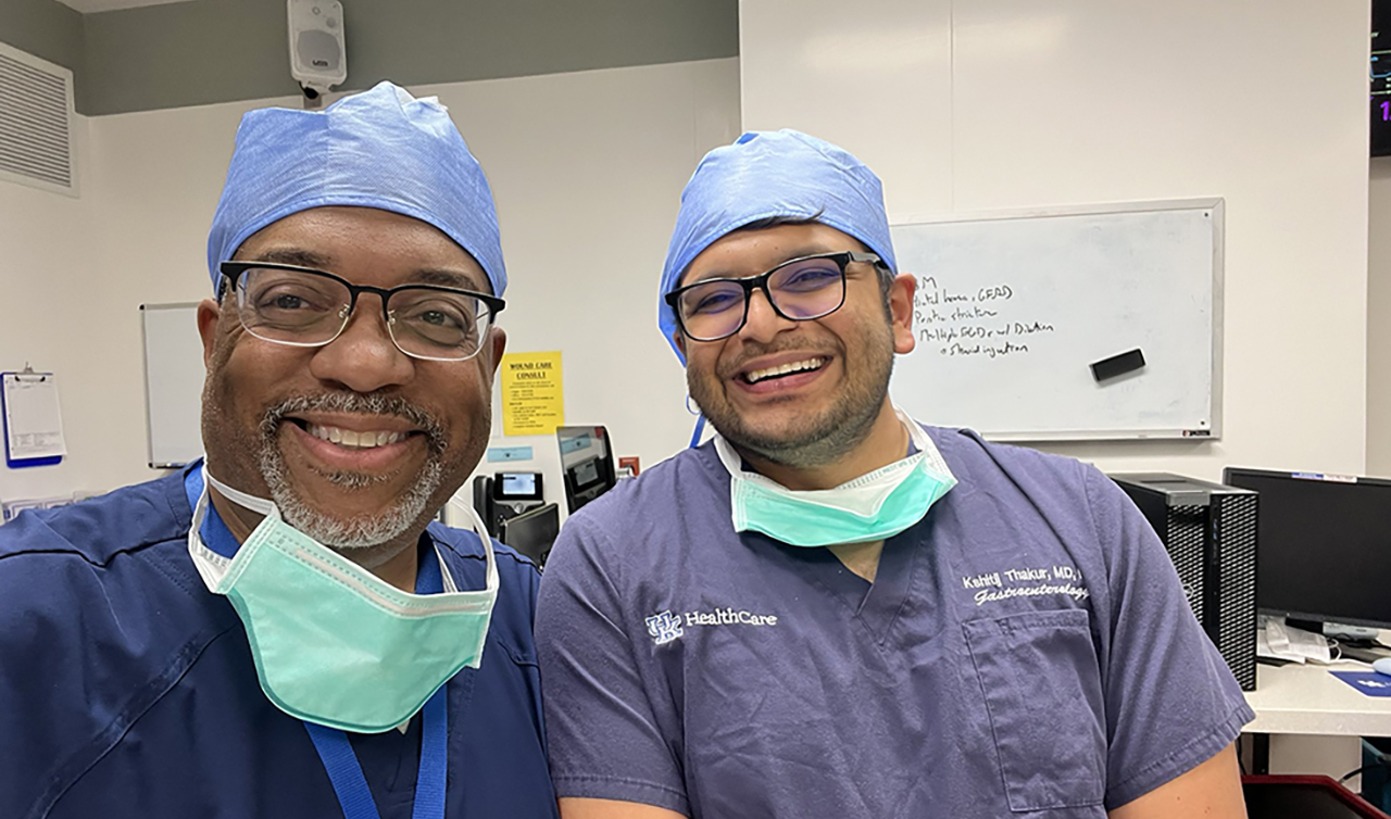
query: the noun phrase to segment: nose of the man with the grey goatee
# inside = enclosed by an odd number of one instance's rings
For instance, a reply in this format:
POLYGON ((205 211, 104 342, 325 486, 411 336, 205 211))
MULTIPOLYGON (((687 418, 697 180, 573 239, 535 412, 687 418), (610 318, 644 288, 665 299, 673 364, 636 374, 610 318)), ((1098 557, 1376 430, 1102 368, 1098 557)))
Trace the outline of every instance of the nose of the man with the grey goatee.
POLYGON ((357 298, 344 331, 310 359, 309 371, 314 378, 353 392, 373 392, 398 387, 415 375, 415 360, 391 341, 380 299, 376 293, 357 298))

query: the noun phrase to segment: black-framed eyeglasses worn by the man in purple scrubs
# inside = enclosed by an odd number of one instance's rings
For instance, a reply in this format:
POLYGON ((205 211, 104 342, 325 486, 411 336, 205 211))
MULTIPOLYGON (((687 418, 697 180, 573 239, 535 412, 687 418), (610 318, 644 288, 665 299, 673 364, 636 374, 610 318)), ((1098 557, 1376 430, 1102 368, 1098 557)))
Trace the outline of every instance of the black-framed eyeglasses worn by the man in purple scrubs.
POLYGON ((887 266, 876 253, 818 253, 783 261, 748 278, 707 278, 666 293, 676 321, 691 341, 719 341, 743 330, 748 299, 764 291, 775 313, 791 321, 829 316, 846 303, 846 267, 864 261, 887 266))

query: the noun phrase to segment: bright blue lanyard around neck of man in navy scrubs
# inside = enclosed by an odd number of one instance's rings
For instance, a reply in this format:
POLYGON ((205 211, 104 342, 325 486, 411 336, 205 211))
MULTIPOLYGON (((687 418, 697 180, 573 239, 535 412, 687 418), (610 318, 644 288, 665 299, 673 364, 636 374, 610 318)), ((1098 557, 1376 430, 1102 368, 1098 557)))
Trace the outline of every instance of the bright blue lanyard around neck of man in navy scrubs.
MULTIPOLYGON (((189 508, 196 508, 198 498, 203 494, 203 470, 200 467, 188 470, 184 477, 184 492, 188 495, 189 508)), ((207 548, 218 555, 231 558, 236 553, 236 540, 211 503, 207 506, 207 517, 203 520, 199 534, 207 548)), ((421 560, 416 576, 416 594, 438 594, 441 591, 444 591, 444 577, 440 573, 440 562, 421 560)), ((445 783, 449 772, 448 688, 448 684, 441 686, 421 709, 420 768, 416 773, 412 819, 444 819, 445 783)), ((319 751, 319 758, 328 773, 328 781, 334 786, 338 804, 344 809, 344 819, 380 819, 381 815, 371 798, 371 790, 367 788, 367 777, 362 775, 362 765, 357 762, 357 754, 353 752, 348 734, 310 722, 303 723, 303 726, 314 743, 314 749, 319 751)))

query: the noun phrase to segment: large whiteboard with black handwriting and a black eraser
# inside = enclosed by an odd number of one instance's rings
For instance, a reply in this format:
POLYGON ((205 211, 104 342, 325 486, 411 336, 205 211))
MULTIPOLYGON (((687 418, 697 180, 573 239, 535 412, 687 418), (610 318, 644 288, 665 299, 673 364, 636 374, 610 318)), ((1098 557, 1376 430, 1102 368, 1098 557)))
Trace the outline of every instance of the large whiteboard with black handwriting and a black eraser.
POLYGON ((997 441, 1221 434, 1221 199, 890 232, 918 281, 917 348, 899 356, 892 394, 918 420, 997 441), (1128 367, 1106 377, 1106 362, 1128 367))

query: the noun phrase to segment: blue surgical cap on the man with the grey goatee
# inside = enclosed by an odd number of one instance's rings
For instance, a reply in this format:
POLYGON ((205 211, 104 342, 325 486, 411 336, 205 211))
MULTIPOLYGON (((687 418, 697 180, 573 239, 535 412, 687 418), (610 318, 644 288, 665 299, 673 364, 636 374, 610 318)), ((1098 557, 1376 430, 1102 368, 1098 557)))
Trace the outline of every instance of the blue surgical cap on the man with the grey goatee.
POLYGON ((207 235, 207 268, 287 216, 346 204, 428 222, 508 286, 492 189, 459 129, 434 97, 381 82, 323 111, 262 108, 242 117, 227 185, 207 235))

